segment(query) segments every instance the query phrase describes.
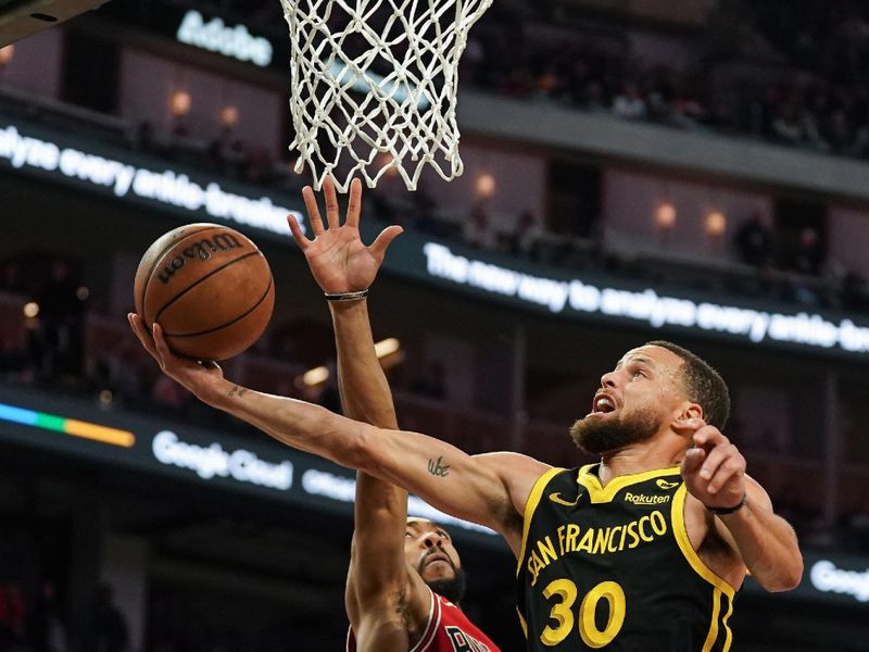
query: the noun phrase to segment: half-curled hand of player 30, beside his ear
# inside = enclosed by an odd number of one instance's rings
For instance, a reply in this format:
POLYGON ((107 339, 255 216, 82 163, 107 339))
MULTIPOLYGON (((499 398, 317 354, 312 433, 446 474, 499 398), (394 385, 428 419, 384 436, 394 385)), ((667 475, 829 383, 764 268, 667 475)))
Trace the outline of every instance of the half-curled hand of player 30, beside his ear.
POLYGON ((682 479, 707 507, 733 507, 745 496, 745 457, 718 428, 694 421, 694 448, 682 460, 682 479))

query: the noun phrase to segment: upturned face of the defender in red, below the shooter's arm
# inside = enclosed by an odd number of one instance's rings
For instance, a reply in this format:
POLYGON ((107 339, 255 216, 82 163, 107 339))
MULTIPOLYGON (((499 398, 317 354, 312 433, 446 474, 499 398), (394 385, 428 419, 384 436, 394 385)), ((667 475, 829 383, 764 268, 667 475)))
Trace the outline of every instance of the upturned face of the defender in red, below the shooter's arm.
POLYGON ((458 604, 465 593, 465 572, 445 529, 428 518, 410 517, 404 556, 432 591, 458 604))

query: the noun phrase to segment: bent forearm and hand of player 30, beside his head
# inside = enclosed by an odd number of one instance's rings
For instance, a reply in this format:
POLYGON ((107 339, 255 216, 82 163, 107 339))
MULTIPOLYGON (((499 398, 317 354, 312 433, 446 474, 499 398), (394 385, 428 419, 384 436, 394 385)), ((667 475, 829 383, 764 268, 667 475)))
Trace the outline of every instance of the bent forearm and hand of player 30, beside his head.
POLYGON ((694 432, 694 447, 682 462, 688 490, 705 507, 730 512, 717 514, 714 526, 732 541, 761 587, 768 591, 796 587, 803 576, 796 535, 773 513, 764 488, 745 474, 745 457, 718 428, 705 424, 694 432))

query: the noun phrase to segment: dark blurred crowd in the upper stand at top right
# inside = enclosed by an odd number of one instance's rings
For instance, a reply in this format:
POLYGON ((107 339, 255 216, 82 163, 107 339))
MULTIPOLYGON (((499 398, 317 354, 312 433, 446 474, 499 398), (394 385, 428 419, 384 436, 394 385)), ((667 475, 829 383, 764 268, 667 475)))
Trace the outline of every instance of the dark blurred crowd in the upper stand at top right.
POLYGON ((644 60, 614 25, 543 28, 493 12, 471 33, 459 77, 467 84, 626 120, 869 155, 866 3, 721 2, 704 32, 684 37, 681 58, 666 62, 644 60))

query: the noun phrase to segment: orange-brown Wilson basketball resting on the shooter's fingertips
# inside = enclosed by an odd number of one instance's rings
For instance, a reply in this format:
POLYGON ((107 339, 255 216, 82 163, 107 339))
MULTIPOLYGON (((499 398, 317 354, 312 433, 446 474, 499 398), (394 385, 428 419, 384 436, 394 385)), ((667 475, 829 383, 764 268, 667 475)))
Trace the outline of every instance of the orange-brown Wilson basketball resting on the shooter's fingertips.
POLYGON ((134 286, 136 312, 163 328, 177 354, 226 360, 263 334, 275 305, 265 256, 250 239, 218 224, 188 224, 144 252, 134 286))

